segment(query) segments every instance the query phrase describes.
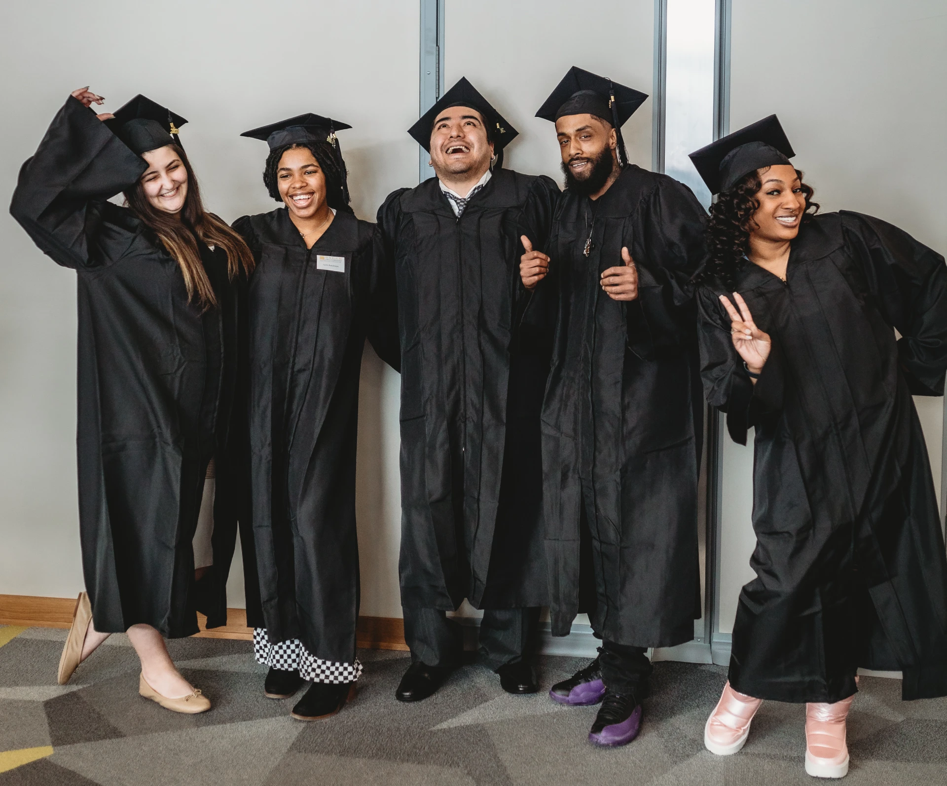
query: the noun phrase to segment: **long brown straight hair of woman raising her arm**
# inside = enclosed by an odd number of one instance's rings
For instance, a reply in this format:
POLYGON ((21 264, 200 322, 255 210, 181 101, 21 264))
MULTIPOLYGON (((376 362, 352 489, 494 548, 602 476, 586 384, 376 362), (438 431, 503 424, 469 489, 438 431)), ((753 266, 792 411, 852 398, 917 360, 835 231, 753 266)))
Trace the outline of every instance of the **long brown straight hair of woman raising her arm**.
POLYGON ((245 274, 253 270, 253 254, 240 235, 204 209, 201 189, 187 154, 176 144, 170 144, 169 147, 174 149, 188 172, 188 192, 180 212, 168 213, 154 207, 145 195, 145 186, 141 180, 134 188, 125 191, 125 204, 178 263, 188 288, 188 302, 196 294, 202 308, 206 310, 217 306, 217 295, 214 295, 214 288, 204 269, 198 241, 223 248, 227 255, 227 274, 231 280, 240 274, 241 268, 245 274))

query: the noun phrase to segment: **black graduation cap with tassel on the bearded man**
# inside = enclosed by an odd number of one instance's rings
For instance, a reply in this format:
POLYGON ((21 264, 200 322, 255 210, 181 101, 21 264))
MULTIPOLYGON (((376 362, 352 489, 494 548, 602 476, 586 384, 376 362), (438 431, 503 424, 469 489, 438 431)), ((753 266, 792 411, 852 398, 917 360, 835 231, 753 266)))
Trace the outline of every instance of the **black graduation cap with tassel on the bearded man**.
POLYGON ((648 94, 573 65, 536 113, 556 122, 567 115, 594 115, 611 123, 618 137, 618 165, 628 163, 621 127, 645 102, 648 94))

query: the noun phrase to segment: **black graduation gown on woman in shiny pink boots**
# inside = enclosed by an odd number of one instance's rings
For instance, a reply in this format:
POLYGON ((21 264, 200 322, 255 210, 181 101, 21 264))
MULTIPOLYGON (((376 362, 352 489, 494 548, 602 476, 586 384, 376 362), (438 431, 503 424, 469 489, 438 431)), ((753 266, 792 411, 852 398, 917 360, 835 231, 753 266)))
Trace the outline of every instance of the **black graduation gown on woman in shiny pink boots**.
POLYGON ((943 393, 944 259, 889 223, 828 213, 803 223, 786 277, 750 262, 737 277, 773 341, 755 387, 723 288, 699 294, 707 399, 735 441, 756 428, 758 578, 740 595, 730 682, 836 702, 861 666, 902 670, 905 699, 943 696, 947 560, 911 394, 943 393))

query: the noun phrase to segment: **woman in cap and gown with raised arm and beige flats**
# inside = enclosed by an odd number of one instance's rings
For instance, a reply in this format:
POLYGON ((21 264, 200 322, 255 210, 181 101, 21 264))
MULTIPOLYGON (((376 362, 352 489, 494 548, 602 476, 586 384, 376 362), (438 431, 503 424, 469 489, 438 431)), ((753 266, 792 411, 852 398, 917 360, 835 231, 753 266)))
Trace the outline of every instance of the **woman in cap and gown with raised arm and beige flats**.
MULTIPOLYGON (((164 637, 226 616, 224 584, 245 499, 239 380, 241 237, 205 211, 177 141, 187 122, 143 96, 113 115, 80 88, 20 172, 10 212, 79 275, 80 595, 60 662, 65 683, 109 634, 141 659, 139 693, 176 712, 210 703, 175 669, 164 637), (124 193, 126 207, 108 200, 124 193), (192 539, 211 460, 214 566, 195 581, 192 539)), ((245 507, 244 507, 245 509, 245 507)), ((248 533, 249 534, 249 533, 248 533)), ((244 538, 253 565, 252 538, 244 538)), ((246 577, 253 616, 256 574, 246 577)), ((251 623, 252 624, 252 623, 251 623)))

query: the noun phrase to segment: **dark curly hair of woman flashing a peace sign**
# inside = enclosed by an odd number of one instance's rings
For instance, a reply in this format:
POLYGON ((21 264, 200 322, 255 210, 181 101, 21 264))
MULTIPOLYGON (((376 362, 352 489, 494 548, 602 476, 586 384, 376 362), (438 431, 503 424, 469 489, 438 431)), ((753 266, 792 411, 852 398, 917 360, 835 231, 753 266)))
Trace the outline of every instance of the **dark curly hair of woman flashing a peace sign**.
MULTIPOLYGON (((802 172, 795 170, 795 174, 806 198, 802 215, 802 223, 806 223, 818 212, 819 205, 813 202, 813 188, 802 181, 802 172)), ((760 188, 759 172, 754 170, 736 186, 721 192, 717 201, 710 205, 710 220, 706 227, 710 261, 695 277, 697 283, 718 278, 727 289, 733 288, 737 274, 746 264, 753 214, 759 209, 756 195, 760 188)))

